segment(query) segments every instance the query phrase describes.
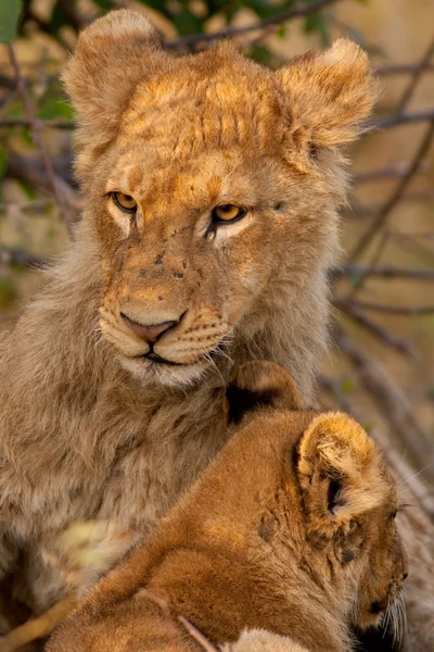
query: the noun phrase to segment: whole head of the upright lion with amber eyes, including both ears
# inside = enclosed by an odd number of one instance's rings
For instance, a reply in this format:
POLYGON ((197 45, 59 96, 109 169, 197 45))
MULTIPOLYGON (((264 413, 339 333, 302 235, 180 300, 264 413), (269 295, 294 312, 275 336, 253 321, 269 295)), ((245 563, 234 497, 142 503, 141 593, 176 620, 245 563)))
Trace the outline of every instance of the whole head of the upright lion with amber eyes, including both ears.
POLYGON ((365 52, 339 40, 277 73, 230 43, 175 58, 144 17, 117 11, 81 34, 65 82, 101 329, 122 361, 190 383, 276 311, 295 324, 335 242, 336 148, 372 104, 365 52))

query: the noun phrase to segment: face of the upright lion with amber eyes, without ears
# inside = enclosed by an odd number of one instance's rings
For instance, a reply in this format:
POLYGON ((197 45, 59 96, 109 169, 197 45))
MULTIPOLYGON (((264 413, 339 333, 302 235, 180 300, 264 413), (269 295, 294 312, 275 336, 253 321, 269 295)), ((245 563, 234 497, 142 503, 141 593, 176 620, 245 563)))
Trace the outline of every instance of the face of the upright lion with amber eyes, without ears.
MULTIPOLYGON (((207 137, 202 117, 190 118, 192 147, 207 137)), ((130 120, 127 131, 143 124, 130 120)), ((166 384, 192 380, 210 356, 225 355, 245 315, 254 328, 252 310, 270 274, 299 242, 294 206, 301 201, 278 158, 265 153, 259 173, 258 160, 243 153, 231 131, 227 151, 200 145, 193 161, 189 154, 170 171, 179 128, 168 142, 157 139, 155 150, 143 152, 138 138, 116 148, 98 212, 102 331, 129 368, 166 384), (126 212, 115 192, 133 198, 135 211, 126 212)))

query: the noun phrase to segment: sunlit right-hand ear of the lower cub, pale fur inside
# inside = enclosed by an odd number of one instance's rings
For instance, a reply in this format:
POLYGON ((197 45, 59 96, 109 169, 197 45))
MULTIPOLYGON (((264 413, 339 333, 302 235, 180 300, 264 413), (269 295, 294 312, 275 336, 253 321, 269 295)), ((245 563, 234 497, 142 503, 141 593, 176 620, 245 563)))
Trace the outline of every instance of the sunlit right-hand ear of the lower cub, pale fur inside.
POLYGON ((321 414, 298 444, 297 475, 309 525, 333 536, 378 507, 390 491, 374 441, 346 414, 321 414))

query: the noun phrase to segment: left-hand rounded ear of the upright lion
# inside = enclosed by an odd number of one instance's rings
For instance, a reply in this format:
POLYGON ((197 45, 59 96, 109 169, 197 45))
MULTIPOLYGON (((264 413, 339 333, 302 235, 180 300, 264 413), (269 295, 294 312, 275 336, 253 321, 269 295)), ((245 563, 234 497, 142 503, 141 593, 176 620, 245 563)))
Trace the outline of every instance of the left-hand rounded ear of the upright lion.
POLYGON ((137 12, 113 11, 87 27, 63 74, 77 112, 78 145, 102 149, 136 86, 166 58, 157 32, 137 12))

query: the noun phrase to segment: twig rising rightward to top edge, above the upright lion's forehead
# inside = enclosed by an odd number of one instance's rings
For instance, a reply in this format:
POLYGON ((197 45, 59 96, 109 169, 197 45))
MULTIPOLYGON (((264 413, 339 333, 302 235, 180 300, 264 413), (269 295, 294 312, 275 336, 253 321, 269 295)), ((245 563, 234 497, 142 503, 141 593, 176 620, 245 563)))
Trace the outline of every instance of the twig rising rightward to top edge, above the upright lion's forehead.
POLYGON ((247 34, 248 32, 255 32, 256 29, 264 29, 269 25, 281 25, 288 23, 293 18, 301 16, 310 16, 317 11, 341 2, 342 0, 317 0, 311 4, 296 4, 289 11, 285 11, 277 16, 271 16, 264 21, 253 23, 252 25, 243 25, 242 27, 227 27, 226 29, 219 29, 218 32, 210 32, 209 34, 192 34, 190 36, 183 36, 173 41, 168 41, 165 45, 167 49, 179 48, 180 46, 191 46, 199 42, 219 40, 222 38, 239 36, 240 34, 247 34))

